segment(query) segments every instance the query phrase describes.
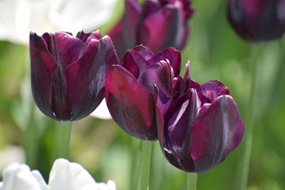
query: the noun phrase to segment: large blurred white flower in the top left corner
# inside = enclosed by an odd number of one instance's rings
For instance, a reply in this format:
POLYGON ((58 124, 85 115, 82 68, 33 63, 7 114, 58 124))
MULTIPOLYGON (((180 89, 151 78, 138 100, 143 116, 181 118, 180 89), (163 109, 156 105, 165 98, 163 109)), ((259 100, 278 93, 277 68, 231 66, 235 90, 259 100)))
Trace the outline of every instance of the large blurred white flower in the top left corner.
POLYGON ((113 14, 117 0, 0 0, 0 39, 28 44, 36 33, 90 31, 113 14))

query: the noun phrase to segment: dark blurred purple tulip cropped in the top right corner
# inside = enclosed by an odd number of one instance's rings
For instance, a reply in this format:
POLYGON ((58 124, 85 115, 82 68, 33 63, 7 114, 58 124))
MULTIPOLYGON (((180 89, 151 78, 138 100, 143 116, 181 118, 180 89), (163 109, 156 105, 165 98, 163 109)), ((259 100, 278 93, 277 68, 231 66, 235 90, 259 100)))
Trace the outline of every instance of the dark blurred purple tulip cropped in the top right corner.
POLYGON ((229 0, 229 22, 247 41, 269 41, 285 32, 285 0, 229 0))

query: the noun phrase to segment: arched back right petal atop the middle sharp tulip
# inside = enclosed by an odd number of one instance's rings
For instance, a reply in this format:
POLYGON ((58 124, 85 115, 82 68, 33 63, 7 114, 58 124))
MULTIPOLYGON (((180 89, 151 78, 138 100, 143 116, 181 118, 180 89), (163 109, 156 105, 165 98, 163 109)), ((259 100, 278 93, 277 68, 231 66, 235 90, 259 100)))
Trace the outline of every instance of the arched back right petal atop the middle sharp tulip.
POLYGON ((177 51, 175 48, 166 48, 164 51, 161 51, 160 53, 157 53, 155 56, 153 56, 149 63, 157 63, 160 60, 169 60, 170 65, 173 68, 173 72, 175 77, 179 75, 180 68, 181 68, 181 53, 180 51, 177 51))

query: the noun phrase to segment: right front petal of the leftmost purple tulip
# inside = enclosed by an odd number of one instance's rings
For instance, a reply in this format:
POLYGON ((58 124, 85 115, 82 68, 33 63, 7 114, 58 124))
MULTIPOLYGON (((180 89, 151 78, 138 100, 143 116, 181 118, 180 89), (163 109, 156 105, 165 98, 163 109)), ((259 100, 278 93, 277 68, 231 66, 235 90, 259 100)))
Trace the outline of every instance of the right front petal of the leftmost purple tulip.
POLYGON ((79 120, 93 112, 104 97, 105 74, 111 65, 118 64, 118 56, 108 36, 91 39, 84 55, 66 70, 67 95, 73 115, 79 120))

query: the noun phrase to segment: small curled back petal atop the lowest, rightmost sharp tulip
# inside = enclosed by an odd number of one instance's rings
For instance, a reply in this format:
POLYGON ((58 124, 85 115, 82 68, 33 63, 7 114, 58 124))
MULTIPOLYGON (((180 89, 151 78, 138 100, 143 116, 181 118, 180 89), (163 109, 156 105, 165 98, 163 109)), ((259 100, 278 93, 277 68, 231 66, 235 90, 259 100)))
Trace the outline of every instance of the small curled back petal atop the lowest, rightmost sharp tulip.
POLYGON ((218 80, 209 80, 207 83, 200 86, 203 95, 209 98, 211 102, 213 102, 214 99, 220 95, 229 95, 229 89, 218 80))

